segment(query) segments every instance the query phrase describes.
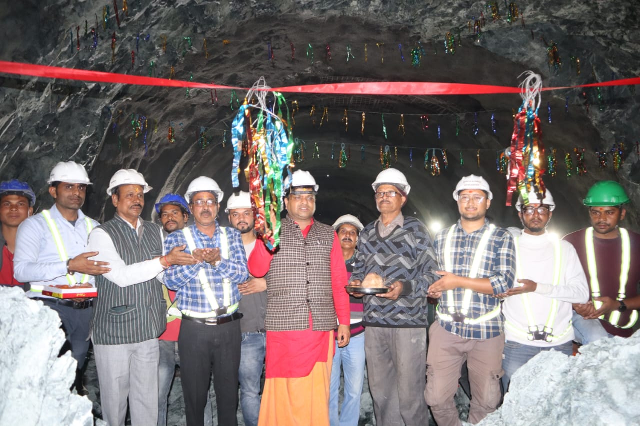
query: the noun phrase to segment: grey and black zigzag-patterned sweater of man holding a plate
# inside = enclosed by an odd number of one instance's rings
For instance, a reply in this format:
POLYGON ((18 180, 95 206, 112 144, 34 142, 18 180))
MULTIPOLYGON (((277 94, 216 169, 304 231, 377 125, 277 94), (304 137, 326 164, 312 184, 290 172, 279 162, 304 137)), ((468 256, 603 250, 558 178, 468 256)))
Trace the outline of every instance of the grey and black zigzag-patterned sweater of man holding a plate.
POLYGON ((364 326, 426 327, 427 290, 439 277, 438 265, 431 239, 415 217, 405 216, 402 227, 383 238, 377 229, 378 221, 369 223, 358 235, 358 251, 351 280, 362 280, 376 272, 385 284, 403 283, 397 300, 378 296, 364 296, 364 326))

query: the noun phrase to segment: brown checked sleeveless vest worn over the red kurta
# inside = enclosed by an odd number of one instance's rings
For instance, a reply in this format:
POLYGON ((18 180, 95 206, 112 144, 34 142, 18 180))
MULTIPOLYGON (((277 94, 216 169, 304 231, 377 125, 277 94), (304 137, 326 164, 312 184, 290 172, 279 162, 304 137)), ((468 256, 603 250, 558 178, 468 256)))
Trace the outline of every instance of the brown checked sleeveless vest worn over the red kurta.
POLYGON ((282 219, 280 246, 267 280, 269 331, 303 330, 309 327, 311 312, 314 331, 337 326, 331 287, 331 249, 335 231, 314 221, 307 238, 291 217, 282 219))

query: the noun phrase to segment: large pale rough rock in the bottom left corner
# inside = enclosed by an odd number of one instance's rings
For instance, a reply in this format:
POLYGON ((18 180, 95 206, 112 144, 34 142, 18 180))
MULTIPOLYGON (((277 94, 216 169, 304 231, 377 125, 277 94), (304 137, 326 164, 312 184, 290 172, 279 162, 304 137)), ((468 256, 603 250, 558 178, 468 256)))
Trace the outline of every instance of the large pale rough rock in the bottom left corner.
POLYGON ((92 403, 69 391, 76 371, 58 314, 19 288, 0 288, 0 425, 93 425, 92 403))

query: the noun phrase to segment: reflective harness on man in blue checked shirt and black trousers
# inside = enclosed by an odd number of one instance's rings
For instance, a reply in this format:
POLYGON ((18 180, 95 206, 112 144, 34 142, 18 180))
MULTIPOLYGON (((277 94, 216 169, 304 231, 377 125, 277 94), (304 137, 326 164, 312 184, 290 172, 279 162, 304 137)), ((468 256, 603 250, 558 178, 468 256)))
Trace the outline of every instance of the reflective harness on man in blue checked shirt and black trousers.
MULTIPOLYGON (((184 232, 184 238, 187 241, 187 246, 189 247, 189 251, 193 253, 193 251, 196 249, 196 243, 193 239, 193 234, 191 233, 191 230, 189 230, 188 227, 185 227, 182 229, 182 232, 184 232)), ((223 258, 228 258, 229 242, 227 239, 227 228, 225 228, 224 226, 220 226, 220 232, 222 234, 220 235, 220 256, 223 258)), ((191 310, 182 310, 182 313, 184 315, 188 315, 189 317, 211 318, 211 317, 217 317, 218 315, 233 313, 237 310, 238 308, 237 303, 230 305, 231 281, 229 281, 228 278, 223 278, 222 280, 222 295, 223 295, 222 303, 224 306, 222 306, 221 308, 220 308, 220 305, 218 305, 218 301, 216 301, 216 295, 214 294, 213 290, 211 289, 211 285, 207 280, 207 272, 205 271, 204 268, 200 269, 200 271, 198 272, 198 280, 200 280, 200 286, 202 287, 202 291, 204 292, 205 297, 207 297, 207 301, 209 301, 209 304, 211 305, 211 312, 203 313, 203 312, 194 312, 191 310)))

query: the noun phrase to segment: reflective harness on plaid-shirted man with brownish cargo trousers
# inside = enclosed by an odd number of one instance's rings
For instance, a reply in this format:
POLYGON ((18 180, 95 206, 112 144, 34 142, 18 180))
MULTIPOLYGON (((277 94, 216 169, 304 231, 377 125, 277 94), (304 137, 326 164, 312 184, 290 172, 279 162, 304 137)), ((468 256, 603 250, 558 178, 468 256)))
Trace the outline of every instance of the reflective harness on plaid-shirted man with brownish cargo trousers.
MULTIPOLYGON (((453 271, 453 253, 451 252, 451 241, 453 239, 453 232, 456 226, 457 225, 452 225, 451 228, 449 228, 449 233, 447 233, 447 239, 444 243, 444 269, 448 272, 453 271)), ((489 242, 489 238, 491 237, 493 230, 495 230, 495 225, 489 225, 488 229, 484 231, 482 237, 480 238, 480 242, 478 243, 478 246, 476 248, 476 254, 474 255, 471 263, 471 269, 469 271, 468 278, 477 278, 480 264, 483 260, 484 249, 486 249, 486 245, 489 242)), ((472 297, 473 290, 469 290, 468 288, 466 288, 462 297, 462 306, 460 308, 460 312, 456 312, 456 306, 454 306, 453 290, 447 290, 447 313, 441 312, 440 304, 438 304, 438 306, 436 306, 436 313, 438 314, 438 317, 444 321, 449 322, 479 324, 500 315, 500 305, 498 305, 491 312, 480 315, 477 318, 468 318, 467 314, 469 312, 469 307, 471 306, 472 297)))

